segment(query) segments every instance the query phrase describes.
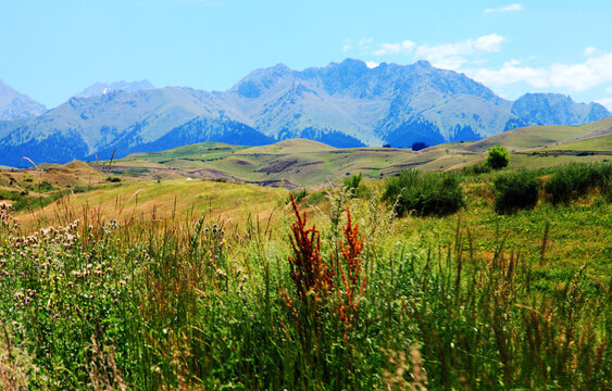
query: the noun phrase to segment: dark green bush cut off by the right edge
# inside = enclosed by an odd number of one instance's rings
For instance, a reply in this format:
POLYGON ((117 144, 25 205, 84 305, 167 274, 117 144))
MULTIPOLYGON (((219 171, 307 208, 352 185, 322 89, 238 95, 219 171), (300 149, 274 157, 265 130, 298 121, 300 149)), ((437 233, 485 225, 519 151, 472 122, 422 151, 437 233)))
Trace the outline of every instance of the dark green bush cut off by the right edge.
POLYGON ((567 203, 594 188, 610 199, 611 177, 612 164, 572 163, 554 171, 545 189, 553 204, 567 203))

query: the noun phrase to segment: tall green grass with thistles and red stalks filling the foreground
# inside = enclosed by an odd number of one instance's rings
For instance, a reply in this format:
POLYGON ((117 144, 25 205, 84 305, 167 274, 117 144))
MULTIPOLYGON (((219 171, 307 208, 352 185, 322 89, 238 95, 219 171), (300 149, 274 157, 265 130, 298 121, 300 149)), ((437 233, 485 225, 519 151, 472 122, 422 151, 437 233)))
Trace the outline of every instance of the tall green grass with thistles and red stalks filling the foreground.
POLYGON ((207 214, 25 235, 0 206, 0 369, 28 363, 30 389, 610 387, 611 281, 542 293, 521 249, 480 252, 460 220, 382 251, 379 198, 330 197, 328 224, 292 202, 275 235, 207 214))

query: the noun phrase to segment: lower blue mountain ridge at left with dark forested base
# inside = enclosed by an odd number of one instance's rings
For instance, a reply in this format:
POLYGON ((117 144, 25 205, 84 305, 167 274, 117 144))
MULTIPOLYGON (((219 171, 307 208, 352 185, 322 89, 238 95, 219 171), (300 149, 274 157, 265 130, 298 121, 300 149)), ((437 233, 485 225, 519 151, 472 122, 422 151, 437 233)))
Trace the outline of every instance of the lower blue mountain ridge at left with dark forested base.
POLYGON ((71 98, 36 118, 3 130, 7 135, 0 139, 0 160, 22 166, 24 155, 36 163, 96 155, 109 159, 115 147, 120 148, 117 157, 123 156, 195 117, 230 113, 217 101, 210 92, 179 87, 71 98))

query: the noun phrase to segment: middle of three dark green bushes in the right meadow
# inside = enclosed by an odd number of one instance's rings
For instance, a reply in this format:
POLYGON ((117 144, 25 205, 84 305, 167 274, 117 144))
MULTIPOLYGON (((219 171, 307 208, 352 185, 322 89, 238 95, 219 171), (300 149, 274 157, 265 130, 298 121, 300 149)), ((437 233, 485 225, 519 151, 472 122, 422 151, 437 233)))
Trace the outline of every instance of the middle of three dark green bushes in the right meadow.
POLYGON ((497 213, 512 213, 534 207, 538 202, 540 182, 534 172, 521 171, 498 176, 495 185, 497 213))

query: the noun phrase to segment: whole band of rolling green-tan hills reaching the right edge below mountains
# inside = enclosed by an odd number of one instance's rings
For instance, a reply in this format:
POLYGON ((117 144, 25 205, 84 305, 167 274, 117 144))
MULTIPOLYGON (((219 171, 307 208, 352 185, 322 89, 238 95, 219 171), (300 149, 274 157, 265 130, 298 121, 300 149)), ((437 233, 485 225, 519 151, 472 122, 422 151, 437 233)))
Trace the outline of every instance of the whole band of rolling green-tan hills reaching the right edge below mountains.
POLYGON ((336 149, 305 139, 264 147, 204 142, 158 153, 138 153, 113 162, 114 171, 159 178, 225 178, 288 188, 339 182, 363 173, 371 178, 407 168, 459 169, 480 162, 494 144, 512 151, 512 167, 548 167, 610 159, 612 117, 582 126, 539 126, 505 131, 476 142, 438 144, 419 152, 392 148, 336 149), (586 153, 588 152, 588 153, 586 153))

